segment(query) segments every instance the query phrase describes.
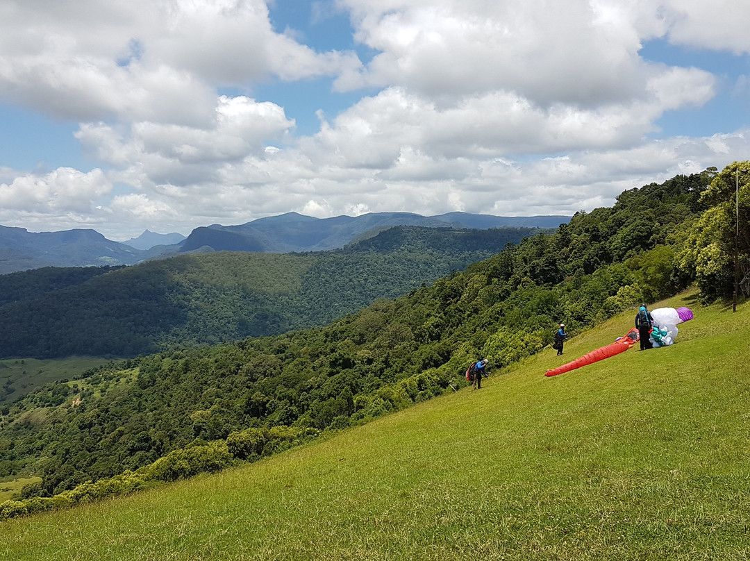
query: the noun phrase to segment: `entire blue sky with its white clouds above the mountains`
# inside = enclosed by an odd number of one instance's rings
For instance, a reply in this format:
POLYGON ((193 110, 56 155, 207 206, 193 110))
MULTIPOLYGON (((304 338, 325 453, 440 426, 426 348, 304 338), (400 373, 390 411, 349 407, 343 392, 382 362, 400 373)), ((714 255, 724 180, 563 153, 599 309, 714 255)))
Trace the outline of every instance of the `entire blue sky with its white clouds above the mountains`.
POLYGON ((748 159, 740 0, 5 0, 0 224, 573 214, 748 159))

